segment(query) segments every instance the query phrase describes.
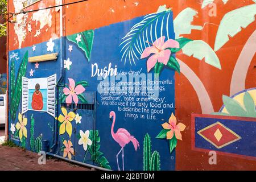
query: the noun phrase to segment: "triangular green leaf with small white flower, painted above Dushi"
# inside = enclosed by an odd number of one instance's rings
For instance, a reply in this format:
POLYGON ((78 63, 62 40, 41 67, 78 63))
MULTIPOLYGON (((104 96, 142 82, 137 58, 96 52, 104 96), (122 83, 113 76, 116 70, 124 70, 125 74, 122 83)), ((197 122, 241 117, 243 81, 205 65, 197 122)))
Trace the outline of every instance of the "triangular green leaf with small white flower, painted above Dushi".
POLYGON ((73 34, 73 35, 67 36, 67 39, 69 41, 76 43, 77 46, 80 49, 82 49, 82 51, 84 51, 85 56, 88 59, 88 62, 90 62, 90 52, 92 51, 93 38, 94 38, 93 30, 88 30, 88 31, 81 32, 79 34, 73 34), (81 41, 77 41, 77 38, 80 38, 81 41))

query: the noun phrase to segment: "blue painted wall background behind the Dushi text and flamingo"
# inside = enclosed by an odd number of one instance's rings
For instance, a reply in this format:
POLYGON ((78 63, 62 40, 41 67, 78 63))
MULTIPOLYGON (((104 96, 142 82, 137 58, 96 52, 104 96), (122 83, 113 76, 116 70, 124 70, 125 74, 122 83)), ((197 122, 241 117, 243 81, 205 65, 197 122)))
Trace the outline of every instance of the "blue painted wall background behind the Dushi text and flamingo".
MULTIPOLYGON (((75 113, 81 116, 81 123, 75 121, 75 117, 72 124, 72 134, 67 132, 60 134, 61 123, 51 115, 46 112, 31 111, 28 110, 24 115, 28 119, 26 125, 27 128, 27 140, 26 148, 31 150, 29 140, 30 127, 31 127, 31 115, 34 116, 35 127, 34 136, 38 137, 41 133, 43 134, 43 139, 49 140, 50 146, 53 144, 53 136, 55 133, 54 124, 57 121, 59 124, 58 130, 58 146, 54 151, 55 154, 64 155, 67 152, 67 145, 72 142, 72 146, 69 145, 69 151, 67 155, 71 156, 71 159, 80 162, 85 162, 89 164, 94 164, 97 166, 105 167, 109 165, 109 168, 113 170, 118 170, 117 165, 117 154, 121 150, 120 144, 118 144, 112 137, 111 128, 112 121, 110 120, 110 111, 115 112, 115 125, 114 132, 117 132, 119 128, 126 129, 131 135, 138 140, 139 148, 135 150, 134 144, 132 142, 128 143, 123 147, 124 157, 122 166, 122 154, 118 156, 119 167, 125 170, 143 170, 143 148, 144 148, 144 137, 146 134, 151 137, 151 150, 157 151, 160 156, 160 169, 161 170, 174 170, 175 169, 175 150, 171 152, 168 147, 168 141, 165 139, 157 139, 156 136, 159 131, 163 129, 162 124, 168 122, 168 119, 172 113, 175 114, 175 71, 172 69, 163 69, 159 76, 159 85, 150 84, 150 81, 157 81, 154 77, 154 71, 147 74, 147 59, 137 60, 135 64, 130 64, 126 61, 124 64, 122 59, 122 54, 120 53, 121 47, 119 44, 122 43, 122 38, 127 34, 127 31, 134 26, 134 24, 140 22, 143 17, 135 18, 126 22, 112 24, 107 27, 98 28, 94 30, 94 39, 92 52, 90 53, 90 60, 85 56, 84 51, 77 46, 76 43, 65 39, 65 64, 67 65, 67 60, 71 61, 72 64, 68 69, 65 69, 65 86, 71 88, 72 78, 76 83, 81 81, 88 82, 88 86, 85 87, 85 91, 82 93, 88 102, 88 105, 94 105, 93 109, 73 109, 69 106, 67 107, 67 113, 75 113), (72 47, 72 49, 71 49, 72 47), (105 79, 94 75, 96 71, 96 64, 98 69, 106 70, 108 68, 117 69, 117 74, 121 77, 117 78, 114 76, 107 76, 105 79), (94 65, 94 66, 93 66, 94 65), (132 75, 131 73, 134 73, 132 75), (143 75, 144 73, 144 75, 143 75), (137 75, 143 75, 140 80, 135 80, 137 75), (102 88, 102 84, 109 84, 103 86, 103 88, 110 88, 112 85, 116 85, 118 82, 122 84, 127 84, 129 81, 138 82, 141 84, 143 78, 146 78, 146 85, 140 86, 142 89, 149 89, 150 86, 158 86, 155 91, 159 93, 158 100, 148 100, 147 96, 140 95, 137 96, 127 92, 127 95, 115 95, 108 94, 104 96, 104 92, 99 92, 102 88), (126 80, 127 79, 127 80, 126 80), (109 97, 110 96, 110 97, 109 97), (110 99, 109 99, 110 98, 110 99), (106 102, 104 102, 106 101, 106 102), (137 109, 137 110, 135 110, 137 109), (102 161, 106 162, 105 166, 99 164, 97 160, 93 160, 93 156, 90 153, 92 150, 92 144, 88 142, 88 148, 85 150, 84 145, 80 144, 81 131, 87 136, 86 131, 96 131, 98 138, 93 140, 92 143, 96 144, 96 158, 100 155, 102 161), (65 143, 67 142, 67 143, 65 143), (65 143, 65 144, 64 144, 65 143), (100 144, 100 146, 99 146, 100 144), (65 147, 64 147, 65 146, 65 147), (73 148, 73 149, 71 149, 73 148), (90 148, 90 149, 89 149, 90 148), (73 152, 75 151, 75 152, 73 152), (89 151, 89 152, 88 152, 89 151), (71 152, 71 154, 68 154, 71 152), (100 153, 101 152, 101 153, 100 153), (106 160, 105 160, 106 159, 106 160)), ((175 39, 174 26, 172 22, 172 13, 170 13, 170 20, 168 24, 168 36, 170 39, 175 39)), ((160 28, 158 29, 160 30, 160 28)), ((156 34, 161 34, 156 32, 156 34)), ((163 36, 167 32, 163 31, 163 36)), ((77 34, 79 35, 79 34, 77 34)), ((161 34, 162 35, 162 34, 161 34)), ((154 40, 156 40, 154 38, 154 40)), ((60 52, 60 39, 53 40, 55 46, 53 47, 53 52, 60 52)), ((33 51, 32 47, 26 47, 22 49, 17 49, 15 51, 9 52, 9 57, 16 54, 20 59, 15 62, 15 71, 17 74, 18 66, 22 57, 26 51, 28 51, 28 56, 38 56, 44 55, 47 52, 47 42, 36 44, 36 50, 33 51)), ((10 65, 10 64, 9 64, 10 65)), ((10 69, 10 68, 9 68, 10 69)), ((154 70, 154 69, 153 69, 154 70)), ((35 63, 27 64, 27 78, 44 78, 51 75, 57 74, 57 80, 60 77, 60 56, 56 61, 45 61, 39 63, 39 68, 35 69, 35 63), (30 76, 30 71, 34 70, 34 76, 30 76)), ((64 88, 61 88, 61 90, 64 88)), ((61 98, 61 93, 57 96, 57 100, 61 98)), ((106 92, 105 92, 106 93, 106 92)), ((148 90, 147 92, 148 93, 148 90)), ((72 97, 74 100, 74 97, 72 97)), ((10 98, 9 98, 10 99, 10 98)), ((62 104, 66 104, 65 101, 61 101, 62 104)), ((56 102, 57 103, 57 102, 56 102)), ((57 105, 57 110, 59 114, 56 115, 56 119, 60 114, 64 114, 61 110, 61 104, 57 105)), ((72 102, 74 104, 74 102, 72 102)), ((82 104, 80 97, 78 104, 82 104)), ((81 105, 79 105, 81 106, 81 105)), ((19 111, 20 111, 19 106, 19 111)), ((77 117, 76 117, 77 119, 77 117)), ((59 119, 60 120, 60 119, 59 119)), ((18 122, 18 113, 15 121, 9 120, 9 124, 18 122)), ((11 127, 11 125, 10 125, 11 127)), ((67 126, 65 128, 67 130, 67 126)), ((91 135, 92 133, 90 133, 91 135)), ((88 136, 87 136, 88 137, 88 136)), ((10 132, 10 138, 15 140, 16 144, 19 144, 18 138, 14 137, 10 132)), ((135 144, 136 145, 136 144, 135 144)), ((68 156, 69 158, 69 156, 68 156)))

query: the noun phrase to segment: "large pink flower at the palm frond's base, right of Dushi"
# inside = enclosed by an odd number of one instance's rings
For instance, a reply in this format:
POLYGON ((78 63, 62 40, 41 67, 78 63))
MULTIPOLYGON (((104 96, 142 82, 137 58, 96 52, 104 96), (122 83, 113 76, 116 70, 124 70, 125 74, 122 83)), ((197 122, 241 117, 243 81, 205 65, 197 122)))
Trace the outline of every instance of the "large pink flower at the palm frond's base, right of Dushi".
POLYGON ((159 39, 157 39, 154 43, 147 42, 148 44, 151 44, 151 47, 147 47, 144 49, 141 59, 148 57, 153 53, 154 55, 150 56, 147 60, 147 72, 149 72, 157 63, 163 63, 164 65, 167 65, 170 56, 171 56, 171 50, 168 48, 179 48, 180 44, 176 40, 169 39, 166 42, 164 42, 164 39, 166 37, 162 36, 159 39))

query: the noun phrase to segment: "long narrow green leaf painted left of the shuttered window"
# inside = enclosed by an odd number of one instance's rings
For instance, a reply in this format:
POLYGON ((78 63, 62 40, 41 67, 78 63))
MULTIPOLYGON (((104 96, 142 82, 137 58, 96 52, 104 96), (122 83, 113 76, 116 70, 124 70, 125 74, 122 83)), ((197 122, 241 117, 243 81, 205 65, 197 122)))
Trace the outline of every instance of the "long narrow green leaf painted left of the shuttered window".
POLYGON ((13 119, 13 121, 16 118, 16 111, 18 110, 19 102, 21 99, 22 77, 26 75, 27 60, 28 60, 28 51, 26 51, 26 53, 23 57, 22 63, 20 64, 18 76, 16 78, 16 85, 15 85, 15 89, 14 89, 14 93, 13 93, 13 98, 11 100, 10 111, 11 111, 11 119, 13 119))

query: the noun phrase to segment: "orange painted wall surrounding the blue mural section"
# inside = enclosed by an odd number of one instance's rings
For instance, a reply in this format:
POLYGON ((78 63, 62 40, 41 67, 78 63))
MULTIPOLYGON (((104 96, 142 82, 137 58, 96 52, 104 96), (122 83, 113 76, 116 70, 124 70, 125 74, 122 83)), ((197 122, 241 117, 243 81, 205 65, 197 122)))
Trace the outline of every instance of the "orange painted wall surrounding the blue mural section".
MULTIPOLYGON (((75 0, 66 0, 63 3, 75 2, 75 0)), ((212 7, 201 9, 203 0, 89 0, 64 7, 64 36, 72 35, 85 30, 108 26, 112 23, 123 22, 138 16, 147 15, 156 12, 158 7, 166 5, 171 7, 174 12, 174 18, 187 7, 198 11, 192 24, 203 26, 203 30, 192 30, 186 38, 192 40, 204 40, 210 47, 214 48, 216 34, 221 19, 226 13, 240 7, 253 5, 251 0, 228 1, 225 5, 221 0, 216 0, 217 16, 209 16, 212 7)), ((38 9, 40 6, 54 6, 55 1, 40 1, 28 7, 26 10, 38 9)), ((14 11, 13 4, 10 4, 10 10, 14 11)), ((31 20, 32 31, 28 32, 22 42, 21 47, 32 46, 36 43, 46 42, 50 38, 60 36, 60 11, 51 9, 52 26, 45 26, 40 30, 41 34, 35 37, 36 30, 39 30, 40 23, 31 20)), ((31 19, 32 13, 28 14, 31 19)), ((29 22, 29 21, 28 21, 29 22)), ((9 23, 9 51, 19 48, 16 43, 18 39, 14 31, 14 23, 9 23)), ((205 64, 204 59, 199 61, 193 57, 177 53, 176 57, 182 60, 189 68, 195 72, 207 90, 212 101, 214 111, 221 109, 223 105, 222 96, 230 96, 230 83, 232 81, 233 70, 249 37, 256 30, 256 22, 250 23, 246 28, 242 28, 229 42, 221 49, 216 51, 220 59, 221 69, 216 69, 209 64, 205 64)), ((127 30, 128 32, 129 30, 127 30)), ((104 40, 102 40, 104 41, 104 40)), ((201 105, 197 93, 188 79, 182 73, 175 73, 175 102, 177 122, 184 123, 187 127, 183 132, 183 140, 177 143, 176 147, 176 169, 177 170, 255 170, 256 160, 236 158, 234 156, 218 155, 218 164, 210 165, 208 163, 208 152, 193 151, 191 146, 191 114, 202 113, 201 105)), ((249 66, 245 89, 256 87, 256 56, 249 66)))

